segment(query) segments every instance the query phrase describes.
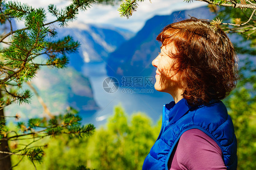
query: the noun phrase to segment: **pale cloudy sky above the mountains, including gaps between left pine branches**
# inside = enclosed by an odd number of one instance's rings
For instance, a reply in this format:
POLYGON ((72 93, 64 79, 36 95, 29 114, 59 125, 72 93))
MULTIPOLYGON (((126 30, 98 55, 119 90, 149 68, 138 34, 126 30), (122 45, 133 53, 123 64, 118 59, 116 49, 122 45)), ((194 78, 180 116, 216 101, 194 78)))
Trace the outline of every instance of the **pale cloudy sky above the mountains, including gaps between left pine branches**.
MULTIPOLYGON (((58 8, 63 8, 71 3, 71 0, 19 0, 21 3, 27 3, 33 7, 44 7, 47 9, 49 4, 54 4, 58 8)), ((70 27, 81 27, 85 24, 108 25, 133 32, 139 31, 145 22, 154 15, 170 15, 173 11, 192 9, 195 7, 207 5, 204 2, 194 1, 186 3, 183 0, 145 0, 138 3, 138 9, 133 13, 130 19, 121 18, 118 12, 119 5, 92 5, 86 11, 80 11, 77 19, 70 23, 70 27)), ((49 21, 53 19, 51 15, 47 17, 49 21)), ((20 23, 22 24, 22 23, 20 23)))

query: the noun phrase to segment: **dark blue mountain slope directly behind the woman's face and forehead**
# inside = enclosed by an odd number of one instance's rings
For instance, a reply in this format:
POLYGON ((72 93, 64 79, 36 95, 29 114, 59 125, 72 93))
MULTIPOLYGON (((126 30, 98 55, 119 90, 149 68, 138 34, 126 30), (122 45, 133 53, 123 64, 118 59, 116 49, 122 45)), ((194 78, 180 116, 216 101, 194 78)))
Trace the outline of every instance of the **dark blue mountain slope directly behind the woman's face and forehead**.
POLYGON ((130 40, 120 45, 108 57, 107 73, 121 81, 122 76, 152 76, 152 60, 158 55, 161 44, 157 35, 167 24, 177 22, 190 16, 213 19, 214 14, 204 6, 192 10, 175 11, 171 15, 157 15, 145 23, 144 27, 130 40))

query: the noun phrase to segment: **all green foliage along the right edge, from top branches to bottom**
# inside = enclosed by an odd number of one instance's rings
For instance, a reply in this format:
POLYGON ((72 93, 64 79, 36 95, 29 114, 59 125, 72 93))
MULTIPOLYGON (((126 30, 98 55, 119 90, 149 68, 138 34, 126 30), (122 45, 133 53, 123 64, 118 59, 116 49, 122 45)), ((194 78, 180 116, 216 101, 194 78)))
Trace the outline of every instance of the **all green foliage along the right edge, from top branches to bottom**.
MULTIPOLYGON (((225 22, 241 24, 249 19, 251 9, 221 8, 217 17, 225 22)), ((238 53, 256 54, 255 17, 250 20, 245 29, 237 31, 224 27, 229 33, 241 35, 246 43, 235 44, 238 53), (248 41, 249 40, 249 41, 248 41)), ((253 62, 254 56, 241 59, 240 81, 237 88, 225 100, 230 116, 234 122, 237 137, 238 170, 254 170, 256 167, 256 67, 253 62)))

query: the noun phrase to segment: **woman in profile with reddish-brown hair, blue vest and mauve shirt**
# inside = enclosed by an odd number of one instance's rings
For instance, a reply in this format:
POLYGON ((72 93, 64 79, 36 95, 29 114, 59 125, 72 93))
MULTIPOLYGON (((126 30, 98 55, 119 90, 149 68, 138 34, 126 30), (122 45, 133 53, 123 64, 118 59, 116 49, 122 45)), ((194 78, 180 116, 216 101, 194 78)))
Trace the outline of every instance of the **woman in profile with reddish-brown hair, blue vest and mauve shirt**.
POLYGON ((158 35, 155 89, 172 95, 143 170, 236 170, 236 136, 220 101, 235 87, 237 58, 227 35, 210 22, 186 19, 158 35))

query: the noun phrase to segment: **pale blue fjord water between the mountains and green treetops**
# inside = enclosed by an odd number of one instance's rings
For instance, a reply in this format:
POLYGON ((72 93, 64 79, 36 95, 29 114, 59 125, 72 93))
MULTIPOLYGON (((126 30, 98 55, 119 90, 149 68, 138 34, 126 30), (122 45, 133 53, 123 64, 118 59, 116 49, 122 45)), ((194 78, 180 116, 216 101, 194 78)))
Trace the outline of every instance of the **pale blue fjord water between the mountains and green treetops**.
POLYGON ((94 99, 100 107, 96 112, 80 112, 82 123, 92 123, 96 127, 104 125, 117 105, 121 105, 128 115, 144 112, 156 123, 162 116, 163 105, 173 100, 171 95, 156 90, 153 93, 124 93, 121 87, 114 93, 105 92, 102 87, 104 79, 108 77, 105 66, 105 63, 86 63, 82 69, 83 75, 90 79, 94 99))

